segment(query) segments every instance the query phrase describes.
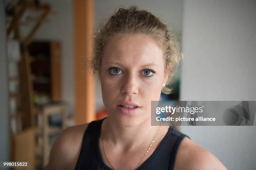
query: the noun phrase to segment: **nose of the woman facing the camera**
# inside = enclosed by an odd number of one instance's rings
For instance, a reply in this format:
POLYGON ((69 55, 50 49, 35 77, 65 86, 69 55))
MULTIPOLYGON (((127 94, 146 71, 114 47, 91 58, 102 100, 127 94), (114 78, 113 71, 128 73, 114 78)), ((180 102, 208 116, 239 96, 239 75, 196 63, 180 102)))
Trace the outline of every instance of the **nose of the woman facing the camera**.
POLYGON ((125 95, 136 95, 138 93, 138 80, 135 75, 127 75, 124 77, 121 91, 125 95))

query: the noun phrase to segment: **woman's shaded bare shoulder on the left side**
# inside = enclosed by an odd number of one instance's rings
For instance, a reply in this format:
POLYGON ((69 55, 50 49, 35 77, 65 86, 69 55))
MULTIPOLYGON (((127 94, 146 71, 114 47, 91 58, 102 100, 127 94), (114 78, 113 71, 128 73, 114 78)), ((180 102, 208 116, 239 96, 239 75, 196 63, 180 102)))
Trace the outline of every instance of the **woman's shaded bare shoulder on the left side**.
POLYGON ((45 170, 74 170, 88 123, 69 127, 55 140, 45 170))

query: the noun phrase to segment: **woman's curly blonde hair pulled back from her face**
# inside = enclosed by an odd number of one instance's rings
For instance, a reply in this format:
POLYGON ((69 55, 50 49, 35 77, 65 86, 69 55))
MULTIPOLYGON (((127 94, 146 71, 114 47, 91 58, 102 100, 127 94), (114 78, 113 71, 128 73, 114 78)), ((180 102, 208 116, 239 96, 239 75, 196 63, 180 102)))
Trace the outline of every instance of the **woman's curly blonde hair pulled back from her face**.
POLYGON ((156 40, 164 51, 165 71, 168 73, 166 85, 162 92, 170 94, 170 82, 182 58, 177 36, 168 29, 159 18, 147 10, 139 10, 136 6, 119 8, 107 23, 100 26, 95 34, 95 55, 90 62, 93 74, 100 74, 100 66, 105 45, 109 37, 117 33, 145 34, 156 40))

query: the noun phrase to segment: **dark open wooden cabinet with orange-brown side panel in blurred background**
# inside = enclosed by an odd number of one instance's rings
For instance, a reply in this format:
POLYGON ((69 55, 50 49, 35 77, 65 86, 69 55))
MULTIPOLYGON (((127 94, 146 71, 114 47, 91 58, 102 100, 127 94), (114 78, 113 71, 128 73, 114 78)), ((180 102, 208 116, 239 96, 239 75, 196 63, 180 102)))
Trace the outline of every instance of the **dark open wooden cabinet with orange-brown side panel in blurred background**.
MULTIPOLYGON (((36 97, 44 95, 51 102, 61 100, 61 44, 58 41, 33 41, 28 46, 31 56, 33 92, 36 97)), ((38 105, 47 101, 38 101, 38 105)))

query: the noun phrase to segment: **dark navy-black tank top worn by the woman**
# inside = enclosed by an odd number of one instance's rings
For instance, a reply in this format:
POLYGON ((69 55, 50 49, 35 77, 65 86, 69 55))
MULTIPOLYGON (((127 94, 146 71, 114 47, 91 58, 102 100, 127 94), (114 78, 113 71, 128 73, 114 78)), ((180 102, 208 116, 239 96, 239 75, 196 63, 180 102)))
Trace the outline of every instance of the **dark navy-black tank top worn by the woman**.
MULTIPOLYGON (((88 125, 75 170, 112 170, 105 165, 100 153, 99 139, 103 120, 104 118, 95 120, 88 125)), ((137 170, 173 170, 177 151, 184 137, 188 136, 170 126, 154 153, 137 170)))

